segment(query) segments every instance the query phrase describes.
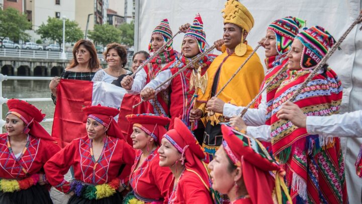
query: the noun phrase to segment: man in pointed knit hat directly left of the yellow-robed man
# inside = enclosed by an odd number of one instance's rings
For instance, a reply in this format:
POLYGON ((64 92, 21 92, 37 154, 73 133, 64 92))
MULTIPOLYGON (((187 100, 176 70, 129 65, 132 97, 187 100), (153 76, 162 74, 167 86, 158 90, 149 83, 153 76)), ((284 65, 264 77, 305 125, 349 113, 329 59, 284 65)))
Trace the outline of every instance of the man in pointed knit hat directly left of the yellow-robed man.
POLYGON ((161 92, 162 90, 170 87, 170 116, 171 122, 169 129, 173 127, 173 119, 178 117, 187 123, 189 119, 189 109, 192 104, 193 95, 195 88, 191 87, 192 76, 198 72, 200 68, 201 74, 203 75, 208 69, 209 65, 215 59, 216 55, 207 54, 203 56, 198 62, 193 64, 190 69, 185 70, 181 74, 177 75, 168 83, 164 84, 157 90, 155 88, 166 81, 177 71, 185 67, 193 59, 199 56, 200 53, 203 53, 208 46, 206 41, 206 34, 203 28, 203 21, 200 14, 198 14, 193 22, 193 25, 187 30, 183 43, 182 43, 182 52, 176 55, 176 58, 168 63, 161 72, 148 83, 145 88, 141 91, 141 97, 144 100, 152 98, 156 93, 161 92))

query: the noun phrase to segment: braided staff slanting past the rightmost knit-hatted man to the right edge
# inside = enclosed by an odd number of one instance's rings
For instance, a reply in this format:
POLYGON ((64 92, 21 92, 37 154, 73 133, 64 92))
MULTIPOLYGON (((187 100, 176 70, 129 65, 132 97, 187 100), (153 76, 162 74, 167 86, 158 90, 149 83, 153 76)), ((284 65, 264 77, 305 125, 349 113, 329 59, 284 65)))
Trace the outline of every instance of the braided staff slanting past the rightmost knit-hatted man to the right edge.
MULTIPOLYGON (((313 72, 308 76, 308 78, 303 82, 303 84, 297 89, 296 92, 292 95, 292 97, 289 99, 289 101, 294 101, 296 97, 301 93, 303 89, 306 88, 307 84, 313 79, 314 76, 318 74, 318 72, 322 69, 324 64, 327 62, 329 57, 334 53, 334 51, 339 48, 339 45, 343 42, 343 40, 347 37, 347 35, 350 33, 350 31, 353 29, 353 27, 359 23, 362 22, 362 11, 359 13, 359 16, 356 18, 356 20, 353 21, 353 23, 348 27, 348 29, 343 33, 343 35, 338 39, 337 43, 335 43, 331 49, 328 50, 327 54, 320 60, 318 65, 314 68, 313 72)), ((362 29, 362 28, 361 28, 362 29)), ((359 30, 361 30, 359 29, 359 30)))

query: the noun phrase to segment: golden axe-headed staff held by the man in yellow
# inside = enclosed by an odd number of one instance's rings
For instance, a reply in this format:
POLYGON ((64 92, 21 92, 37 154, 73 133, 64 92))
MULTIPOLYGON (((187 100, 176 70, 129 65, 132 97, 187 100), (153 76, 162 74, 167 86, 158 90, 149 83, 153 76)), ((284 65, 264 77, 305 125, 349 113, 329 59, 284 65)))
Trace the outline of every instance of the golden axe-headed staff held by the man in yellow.
MULTIPOLYGON (((193 70, 191 79, 190 79, 190 90, 195 88, 194 96, 191 99, 191 103, 193 103, 192 109, 195 110, 196 108, 196 100, 199 97, 198 93, 201 89, 201 92, 204 94, 207 86, 207 73, 204 74, 204 76, 201 76, 201 66, 199 66, 199 69, 193 70), (196 72, 196 73, 195 73, 196 72)), ((190 112, 190 111, 189 111, 190 112)), ((190 130, 192 131, 194 128, 194 122, 191 122, 190 130)))

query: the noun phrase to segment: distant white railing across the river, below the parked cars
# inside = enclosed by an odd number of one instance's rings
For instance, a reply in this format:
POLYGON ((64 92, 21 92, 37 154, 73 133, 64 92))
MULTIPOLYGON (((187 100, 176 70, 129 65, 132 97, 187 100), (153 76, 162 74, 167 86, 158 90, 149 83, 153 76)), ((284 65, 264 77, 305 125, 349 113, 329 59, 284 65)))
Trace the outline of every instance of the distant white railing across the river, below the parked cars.
MULTIPOLYGON (((68 60, 73 58, 73 53, 65 52, 68 60)), ((103 54, 97 54, 98 58, 103 61, 103 54)), ((61 59, 60 51, 46 50, 26 50, 26 49, 9 49, 0 48, 0 56, 3 57, 19 57, 19 58, 36 58, 36 59, 61 59)))

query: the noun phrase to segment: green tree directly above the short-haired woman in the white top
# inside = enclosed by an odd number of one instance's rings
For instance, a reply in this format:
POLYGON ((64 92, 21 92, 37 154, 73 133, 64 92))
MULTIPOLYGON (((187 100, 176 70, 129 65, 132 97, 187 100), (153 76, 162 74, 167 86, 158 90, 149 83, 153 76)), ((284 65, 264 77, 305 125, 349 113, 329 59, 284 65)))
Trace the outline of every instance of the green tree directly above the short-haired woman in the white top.
POLYGON ((89 39, 92 39, 95 44, 100 43, 102 45, 107 45, 112 42, 120 43, 120 36, 121 31, 109 24, 96 24, 94 30, 88 32, 89 39))

